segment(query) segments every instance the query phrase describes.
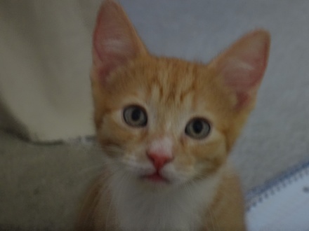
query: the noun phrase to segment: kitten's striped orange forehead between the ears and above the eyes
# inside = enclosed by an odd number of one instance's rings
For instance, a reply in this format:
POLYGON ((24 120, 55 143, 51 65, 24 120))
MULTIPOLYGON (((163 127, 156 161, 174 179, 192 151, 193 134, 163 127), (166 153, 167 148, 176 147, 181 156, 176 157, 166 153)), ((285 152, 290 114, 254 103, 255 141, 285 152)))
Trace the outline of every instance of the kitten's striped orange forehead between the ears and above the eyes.
POLYGON ((196 101, 200 93, 206 93, 208 77, 206 66, 180 59, 151 58, 131 63, 119 76, 119 82, 121 92, 177 105, 188 99, 196 101))

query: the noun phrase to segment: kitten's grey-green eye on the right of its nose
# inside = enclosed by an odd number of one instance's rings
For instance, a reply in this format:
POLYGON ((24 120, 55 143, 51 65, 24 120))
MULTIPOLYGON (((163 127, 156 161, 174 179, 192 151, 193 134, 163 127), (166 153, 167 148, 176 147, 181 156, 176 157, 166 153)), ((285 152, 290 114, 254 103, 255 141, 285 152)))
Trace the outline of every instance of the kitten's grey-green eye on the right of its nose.
POLYGON ((211 126, 203 118, 194 118, 185 126, 185 134, 193 139, 203 139, 209 135, 211 126))

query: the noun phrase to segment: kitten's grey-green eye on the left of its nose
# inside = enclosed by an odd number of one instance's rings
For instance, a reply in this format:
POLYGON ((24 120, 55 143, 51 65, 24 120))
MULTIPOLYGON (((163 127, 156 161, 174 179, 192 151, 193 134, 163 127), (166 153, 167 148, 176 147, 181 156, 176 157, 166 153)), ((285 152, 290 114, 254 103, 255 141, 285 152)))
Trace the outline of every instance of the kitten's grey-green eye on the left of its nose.
POLYGON ((140 106, 127 106, 124 109, 124 121, 132 127, 144 127, 147 125, 147 114, 140 106))

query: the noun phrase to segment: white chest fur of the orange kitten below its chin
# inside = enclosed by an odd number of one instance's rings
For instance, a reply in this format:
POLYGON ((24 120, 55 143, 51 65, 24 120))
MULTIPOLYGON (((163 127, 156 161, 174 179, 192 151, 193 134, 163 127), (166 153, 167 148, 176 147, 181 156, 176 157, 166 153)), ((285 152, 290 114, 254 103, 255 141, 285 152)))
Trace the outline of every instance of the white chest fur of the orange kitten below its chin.
POLYGON ((199 230, 212 202, 219 174, 187 186, 151 192, 127 181, 112 179, 112 202, 124 231, 199 230))

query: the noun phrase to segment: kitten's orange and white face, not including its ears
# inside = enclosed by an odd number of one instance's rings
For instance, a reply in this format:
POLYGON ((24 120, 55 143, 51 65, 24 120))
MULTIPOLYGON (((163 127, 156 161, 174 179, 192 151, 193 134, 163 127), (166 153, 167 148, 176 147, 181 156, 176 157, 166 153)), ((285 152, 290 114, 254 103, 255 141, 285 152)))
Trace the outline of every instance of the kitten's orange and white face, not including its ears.
POLYGON ((224 131, 232 121, 221 123, 229 112, 209 84, 213 75, 207 66, 154 57, 116 71, 100 90, 98 137, 108 157, 140 181, 184 183, 215 172, 227 156, 224 131), (150 153, 168 160, 156 168, 150 153))

